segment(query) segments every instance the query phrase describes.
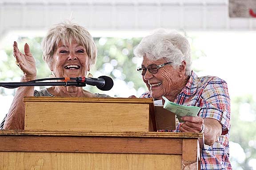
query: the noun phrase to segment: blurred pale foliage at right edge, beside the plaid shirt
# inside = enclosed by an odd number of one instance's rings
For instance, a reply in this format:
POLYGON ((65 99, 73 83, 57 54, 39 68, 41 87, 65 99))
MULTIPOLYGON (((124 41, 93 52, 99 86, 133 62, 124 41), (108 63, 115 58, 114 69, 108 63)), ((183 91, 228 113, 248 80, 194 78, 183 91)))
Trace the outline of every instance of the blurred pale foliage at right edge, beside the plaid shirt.
MULTIPOLYGON (((243 161, 232 160, 236 168, 255 170, 249 162, 256 162, 256 102, 252 95, 236 97, 231 100, 231 133, 230 141, 239 143, 244 149, 243 161), (254 160, 253 160, 254 159, 254 160)), ((256 165, 256 163, 254 164, 256 165)))

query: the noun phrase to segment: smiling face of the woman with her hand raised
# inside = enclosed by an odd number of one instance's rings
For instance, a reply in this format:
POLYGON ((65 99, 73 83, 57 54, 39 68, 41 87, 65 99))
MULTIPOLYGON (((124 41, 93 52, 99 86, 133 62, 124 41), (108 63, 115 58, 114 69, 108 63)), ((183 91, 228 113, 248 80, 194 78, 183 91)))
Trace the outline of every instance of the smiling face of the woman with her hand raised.
POLYGON ((90 70, 88 55, 84 46, 72 41, 59 42, 53 54, 51 71, 56 77, 83 77, 90 70))

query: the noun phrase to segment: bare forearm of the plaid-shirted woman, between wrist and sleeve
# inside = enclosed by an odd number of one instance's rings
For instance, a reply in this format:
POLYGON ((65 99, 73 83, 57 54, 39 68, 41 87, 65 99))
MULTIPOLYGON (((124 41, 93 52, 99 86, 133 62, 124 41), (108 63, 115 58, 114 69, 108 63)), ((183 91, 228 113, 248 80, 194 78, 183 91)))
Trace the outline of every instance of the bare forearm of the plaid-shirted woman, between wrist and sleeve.
POLYGON ((218 120, 205 118, 204 119, 204 143, 213 145, 221 135, 222 127, 218 120))

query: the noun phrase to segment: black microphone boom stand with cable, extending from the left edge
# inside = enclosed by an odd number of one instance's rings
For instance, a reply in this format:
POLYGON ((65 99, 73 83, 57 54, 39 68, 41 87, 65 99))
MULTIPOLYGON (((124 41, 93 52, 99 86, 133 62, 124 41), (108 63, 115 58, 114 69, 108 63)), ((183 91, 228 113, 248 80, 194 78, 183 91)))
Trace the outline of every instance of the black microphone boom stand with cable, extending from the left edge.
POLYGON ((0 87, 14 89, 20 86, 71 86, 71 85, 75 85, 76 87, 86 86, 86 83, 80 82, 79 77, 68 78, 69 80, 75 80, 75 81, 38 82, 38 81, 65 80, 65 79, 66 78, 64 77, 56 77, 56 78, 36 79, 32 81, 27 81, 27 82, 7 82, 7 83, 0 82, 0 87))

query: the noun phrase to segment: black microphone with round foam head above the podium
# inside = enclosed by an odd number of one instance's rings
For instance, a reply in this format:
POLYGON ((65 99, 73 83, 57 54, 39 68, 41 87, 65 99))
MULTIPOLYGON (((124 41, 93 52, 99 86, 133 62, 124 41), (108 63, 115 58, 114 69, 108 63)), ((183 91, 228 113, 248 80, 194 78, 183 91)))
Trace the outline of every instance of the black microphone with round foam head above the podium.
POLYGON ((108 76, 100 76, 98 78, 76 77, 76 82, 85 83, 87 85, 96 85, 98 89, 103 91, 112 89, 114 85, 112 78, 108 76))

